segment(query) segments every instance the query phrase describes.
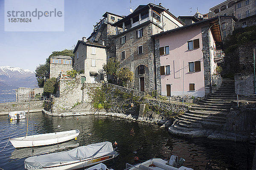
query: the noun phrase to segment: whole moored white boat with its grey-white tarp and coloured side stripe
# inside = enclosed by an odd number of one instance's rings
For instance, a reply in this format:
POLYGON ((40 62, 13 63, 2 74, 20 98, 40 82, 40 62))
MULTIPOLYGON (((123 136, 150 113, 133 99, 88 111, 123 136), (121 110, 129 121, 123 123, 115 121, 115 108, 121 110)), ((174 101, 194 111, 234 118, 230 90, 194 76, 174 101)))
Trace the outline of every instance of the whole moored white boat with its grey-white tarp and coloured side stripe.
POLYGON ((24 161, 27 170, 74 170, 118 156, 111 142, 101 142, 58 153, 32 156, 24 161))

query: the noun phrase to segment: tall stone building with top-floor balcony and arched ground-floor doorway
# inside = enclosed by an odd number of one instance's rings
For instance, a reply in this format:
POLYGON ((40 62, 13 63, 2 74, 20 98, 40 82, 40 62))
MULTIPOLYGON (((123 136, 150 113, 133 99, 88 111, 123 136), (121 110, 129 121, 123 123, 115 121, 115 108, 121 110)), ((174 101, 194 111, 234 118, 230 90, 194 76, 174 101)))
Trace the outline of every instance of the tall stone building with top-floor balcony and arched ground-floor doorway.
POLYGON ((140 91, 155 89, 153 41, 151 35, 184 24, 159 5, 140 5, 131 14, 113 23, 116 26, 116 58, 122 68, 134 72, 130 87, 140 91))

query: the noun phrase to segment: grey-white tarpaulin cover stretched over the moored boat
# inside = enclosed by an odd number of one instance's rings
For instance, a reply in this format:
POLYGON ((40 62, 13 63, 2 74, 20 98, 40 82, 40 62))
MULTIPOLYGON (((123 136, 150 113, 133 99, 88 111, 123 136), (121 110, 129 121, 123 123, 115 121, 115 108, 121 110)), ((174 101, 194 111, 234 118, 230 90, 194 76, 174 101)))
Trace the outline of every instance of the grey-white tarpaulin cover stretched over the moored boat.
POLYGON ((64 164, 87 158, 96 158, 99 156, 112 155, 114 150, 111 142, 101 142, 97 144, 89 144, 87 146, 77 147, 73 150, 50 153, 40 156, 32 156, 24 161, 25 169, 40 169, 43 167, 64 164))

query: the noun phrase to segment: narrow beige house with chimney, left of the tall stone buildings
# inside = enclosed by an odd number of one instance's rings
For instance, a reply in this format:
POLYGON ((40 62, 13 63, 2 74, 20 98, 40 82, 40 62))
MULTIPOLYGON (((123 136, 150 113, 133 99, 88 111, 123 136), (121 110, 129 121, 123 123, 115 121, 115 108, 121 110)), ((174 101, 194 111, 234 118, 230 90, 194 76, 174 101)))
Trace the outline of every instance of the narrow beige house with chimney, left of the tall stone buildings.
POLYGON ((83 37, 79 40, 74 49, 77 71, 84 70, 81 75, 81 83, 99 83, 105 80, 106 74, 103 71, 103 64, 107 63, 107 47, 98 43, 86 42, 83 37))

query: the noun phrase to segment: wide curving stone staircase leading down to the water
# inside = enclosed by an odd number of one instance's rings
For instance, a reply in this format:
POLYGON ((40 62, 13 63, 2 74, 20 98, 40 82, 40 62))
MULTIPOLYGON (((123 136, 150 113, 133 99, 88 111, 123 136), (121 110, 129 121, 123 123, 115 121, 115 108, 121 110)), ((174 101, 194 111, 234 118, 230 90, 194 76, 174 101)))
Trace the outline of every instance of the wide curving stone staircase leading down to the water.
POLYGON ((179 115, 169 132, 183 136, 209 136, 220 132, 227 123, 227 112, 236 104, 234 81, 223 79, 221 87, 179 115))

